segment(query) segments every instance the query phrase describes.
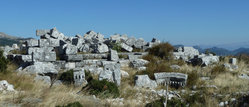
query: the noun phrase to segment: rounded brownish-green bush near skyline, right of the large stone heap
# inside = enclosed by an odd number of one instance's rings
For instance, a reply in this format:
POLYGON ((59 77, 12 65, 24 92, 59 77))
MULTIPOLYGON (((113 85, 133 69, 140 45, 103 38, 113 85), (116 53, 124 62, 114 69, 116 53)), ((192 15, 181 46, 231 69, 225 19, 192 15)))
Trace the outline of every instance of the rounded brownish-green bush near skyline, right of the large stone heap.
POLYGON ((162 59, 169 60, 172 57, 173 50, 174 47, 168 42, 166 42, 166 43, 160 43, 150 48, 149 54, 160 57, 162 59))

